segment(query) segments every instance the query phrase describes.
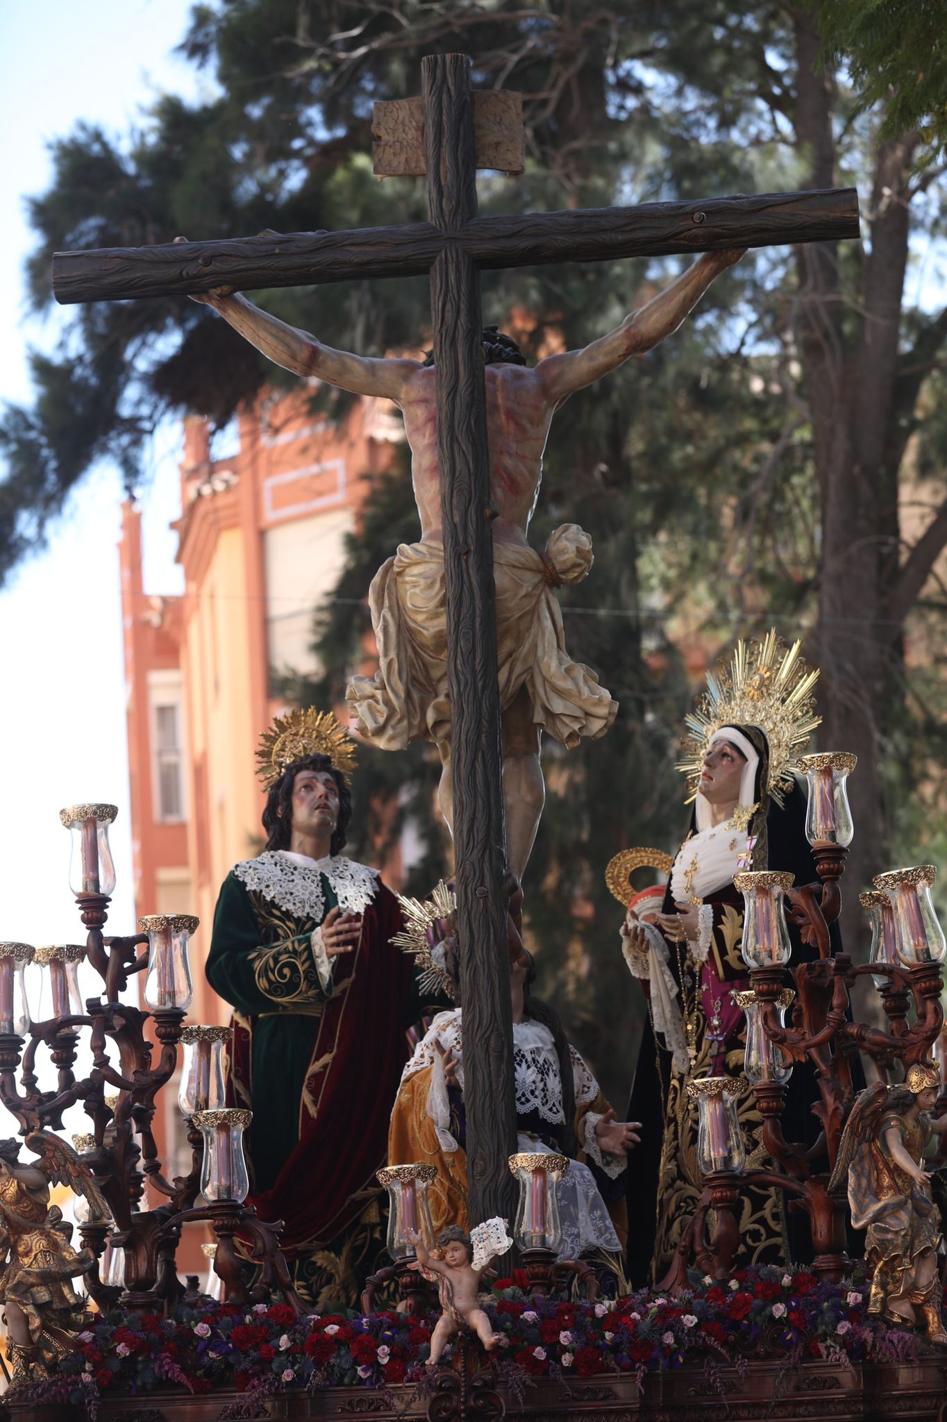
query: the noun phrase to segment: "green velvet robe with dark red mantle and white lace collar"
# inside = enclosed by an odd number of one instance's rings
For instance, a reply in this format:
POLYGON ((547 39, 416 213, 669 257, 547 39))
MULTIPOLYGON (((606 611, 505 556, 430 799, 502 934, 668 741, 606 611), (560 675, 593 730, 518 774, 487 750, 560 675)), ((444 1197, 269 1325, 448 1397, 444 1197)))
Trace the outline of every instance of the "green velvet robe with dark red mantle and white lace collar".
POLYGON ((233 1008, 229 1094, 253 1111, 250 1203, 284 1220, 283 1253, 313 1307, 355 1305, 384 1254, 388 1118, 419 1015, 410 960, 391 946, 397 900, 343 856, 284 852, 236 865, 215 913, 206 974, 233 1008), (313 931, 338 904, 357 948, 320 983, 313 931))

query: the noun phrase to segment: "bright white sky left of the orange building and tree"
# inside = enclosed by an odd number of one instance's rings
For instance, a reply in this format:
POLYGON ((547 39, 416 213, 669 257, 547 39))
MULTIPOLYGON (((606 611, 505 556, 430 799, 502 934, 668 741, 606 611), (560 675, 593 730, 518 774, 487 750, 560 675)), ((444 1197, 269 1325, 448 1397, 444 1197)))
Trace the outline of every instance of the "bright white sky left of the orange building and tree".
MULTIPOLYGON (((171 53, 188 14, 189 0, 0 6, 0 401, 28 404, 27 347, 55 347, 58 317, 27 320, 23 277, 33 247, 26 198, 51 181, 46 145, 80 119, 124 135, 161 91, 193 97, 193 71, 171 53)), ((165 431, 149 455, 152 482, 144 499, 149 592, 181 586, 166 530, 175 515, 175 441, 176 431, 165 431)), ((118 471, 97 468, 46 552, 0 592, 1 940, 84 941, 67 882, 70 836, 58 811, 85 799, 119 806, 109 924, 115 933, 134 929, 117 549, 121 499, 118 471)), ((90 971, 84 991, 97 983, 90 971)), ((0 1135, 9 1130, 0 1119, 0 1135)))

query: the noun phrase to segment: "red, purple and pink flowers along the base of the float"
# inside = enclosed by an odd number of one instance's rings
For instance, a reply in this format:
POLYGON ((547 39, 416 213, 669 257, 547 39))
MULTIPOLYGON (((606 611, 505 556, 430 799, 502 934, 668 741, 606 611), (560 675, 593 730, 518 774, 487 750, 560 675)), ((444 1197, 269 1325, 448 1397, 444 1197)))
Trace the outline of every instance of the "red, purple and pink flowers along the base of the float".
MULTIPOLYGON (((820 1283, 806 1270, 738 1270, 725 1284, 694 1277, 675 1298, 648 1291, 589 1304, 530 1298, 501 1280, 486 1311, 501 1335, 502 1372, 528 1378, 680 1368, 704 1355, 719 1364, 754 1354, 842 1362, 907 1361, 921 1338, 866 1315, 867 1283, 820 1283)), ((236 1308, 208 1300, 169 1317, 112 1310, 80 1334, 50 1382, 17 1389, 26 1401, 84 1402, 104 1391, 132 1395, 181 1386, 232 1386, 263 1398, 287 1388, 422 1385, 435 1321, 350 1311, 296 1318, 286 1304, 236 1308)), ((233 1415, 237 1415, 236 1412, 233 1415)))

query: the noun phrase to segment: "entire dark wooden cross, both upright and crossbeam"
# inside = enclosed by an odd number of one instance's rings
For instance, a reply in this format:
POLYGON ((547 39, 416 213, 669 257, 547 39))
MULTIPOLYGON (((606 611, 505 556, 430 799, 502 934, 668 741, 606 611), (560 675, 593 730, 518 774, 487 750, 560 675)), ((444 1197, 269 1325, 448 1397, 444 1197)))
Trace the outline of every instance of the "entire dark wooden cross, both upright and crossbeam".
MULTIPOLYGON (((481 269, 857 237, 859 212, 856 192, 847 188, 478 218, 469 60, 461 54, 428 55, 421 73, 425 162, 421 168, 417 142, 412 146, 407 134, 405 152, 411 152, 398 159, 402 166, 397 171, 427 172, 428 222, 355 232, 263 233, 191 242, 186 247, 64 252, 53 259, 53 289, 61 303, 114 301, 186 296, 218 286, 255 290, 429 273, 454 717, 456 893, 464 941, 466 1155, 471 1221, 476 1223, 491 1214, 512 1220, 513 1183, 506 1158, 516 1149, 509 957, 501 897, 501 707, 481 269)), ((418 109, 412 102, 417 139, 418 109)), ((501 145, 499 152, 505 155, 506 149, 501 145)), ((394 161, 391 151, 388 161, 394 161)), ((493 162, 515 166, 508 156, 495 156, 493 162)))

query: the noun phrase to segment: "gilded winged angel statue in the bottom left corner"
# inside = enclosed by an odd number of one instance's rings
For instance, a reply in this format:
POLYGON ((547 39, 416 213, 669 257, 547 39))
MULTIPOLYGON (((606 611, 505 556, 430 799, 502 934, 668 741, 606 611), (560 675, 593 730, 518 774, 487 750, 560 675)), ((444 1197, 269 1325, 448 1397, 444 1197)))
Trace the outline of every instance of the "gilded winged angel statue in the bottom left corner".
POLYGON ((47 1378, 74 1348, 73 1335, 92 1314, 71 1280, 95 1263, 91 1250, 74 1250, 63 1213, 50 1204, 50 1185, 68 1185, 90 1203, 90 1219, 108 1204, 75 1152, 47 1130, 26 1143, 40 1159, 20 1165, 20 1142, 0 1140, 0 1304, 13 1355, 11 1382, 47 1378))

